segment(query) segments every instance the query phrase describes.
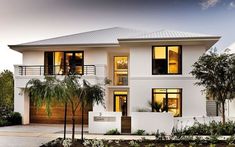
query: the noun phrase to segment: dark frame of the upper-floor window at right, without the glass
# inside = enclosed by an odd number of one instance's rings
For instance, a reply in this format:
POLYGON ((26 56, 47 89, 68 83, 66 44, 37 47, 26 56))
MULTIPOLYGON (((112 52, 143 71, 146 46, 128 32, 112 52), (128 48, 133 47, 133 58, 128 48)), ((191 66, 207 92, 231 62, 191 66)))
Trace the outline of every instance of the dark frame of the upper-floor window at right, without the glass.
POLYGON ((183 52, 182 52, 182 45, 156 45, 156 46, 152 46, 152 75, 182 75, 182 61, 183 60, 183 52), (171 46, 178 46, 179 47, 179 52, 180 52, 180 63, 179 63, 179 73, 166 73, 166 74, 156 74, 153 73, 153 62, 154 62, 154 47, 166 47, 166 62, 167 62, 167 72, 168 72, 168 47, 171 46))

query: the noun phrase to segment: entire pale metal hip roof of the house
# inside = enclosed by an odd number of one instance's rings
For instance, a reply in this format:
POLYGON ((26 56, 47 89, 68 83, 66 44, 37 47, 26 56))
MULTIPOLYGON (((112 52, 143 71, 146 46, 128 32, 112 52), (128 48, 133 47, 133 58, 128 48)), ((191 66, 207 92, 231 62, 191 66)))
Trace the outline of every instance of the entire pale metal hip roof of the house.
POLYGON ((10 48, 24 46, 49 46, 49 45, 110 45, 119 44, 121 40, 161 40, 161 39, 190 39, 190 38, 220 38, 220 36, 179 32, 171 30, 160 30, 157 32, 145 32, 129 28, 113 27, 89 31, 84 33, 61 36, 51 39, 28 42, 18 45, 9 45, 10 48))

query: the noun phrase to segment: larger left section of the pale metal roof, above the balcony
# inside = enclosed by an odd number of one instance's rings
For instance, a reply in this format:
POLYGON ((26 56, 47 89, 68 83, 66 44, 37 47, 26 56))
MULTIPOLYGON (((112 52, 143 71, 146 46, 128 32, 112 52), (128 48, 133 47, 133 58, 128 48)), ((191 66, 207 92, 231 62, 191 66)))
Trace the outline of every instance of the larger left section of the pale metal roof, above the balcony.
POLYGON ((128 28, 114 27, 23 43, 20 45, 118 44, 118 38, 137 36, 144 33, 146 32, 128 28))

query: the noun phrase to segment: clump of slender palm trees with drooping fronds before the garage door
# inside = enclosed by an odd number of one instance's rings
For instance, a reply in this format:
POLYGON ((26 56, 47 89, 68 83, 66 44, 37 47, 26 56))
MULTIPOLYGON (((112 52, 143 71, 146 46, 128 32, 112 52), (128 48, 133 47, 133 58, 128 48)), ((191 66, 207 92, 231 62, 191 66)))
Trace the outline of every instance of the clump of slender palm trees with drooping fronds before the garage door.
MULTIPOLYGON (((81 76, 77 75, 66 75, 62 81, 56 79, 54 76, 47 76, 44 81, 39 79, 29 80, 25 88, 37 108, 45 104, 48 116, 51 114, 50 106, 53 101, 62 102, 65 106, 70 104, 72 111, 72 141, 74 141, 75 136, 75 112, 79 106, 81 106, 82 109, 83 140, 84 108, 93 106, 95 102, 104 105, 104 89, 100 85, 91 85, 86 80, 83 80, 82 84, 80 84, 80 81, 81 76)), ((64 129, 66 129, 66 124, 64 125, 64 129)))

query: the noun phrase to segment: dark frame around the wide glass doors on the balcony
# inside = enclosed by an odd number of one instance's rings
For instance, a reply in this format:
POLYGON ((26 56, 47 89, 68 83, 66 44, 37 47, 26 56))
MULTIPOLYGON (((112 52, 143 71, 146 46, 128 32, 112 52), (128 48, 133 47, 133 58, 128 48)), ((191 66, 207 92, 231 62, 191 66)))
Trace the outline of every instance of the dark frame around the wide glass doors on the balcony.
MULTIPOLYGON (((84 75, 84 51, 44 51, 44 69, 46 68, 46 53, 53 53, 53 66, 55 66, 55 52, 63 52, 64 53, 64 70, 66 68, 66 53, 82 53, 82 75, 84 75)), ((45 70, 44 70, 44 75, 46 75, 45 70)), ((53 75, 54 75, 54 68, 53 68, 53 75)))

